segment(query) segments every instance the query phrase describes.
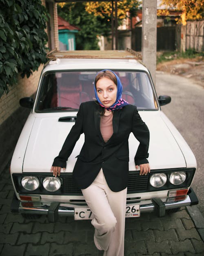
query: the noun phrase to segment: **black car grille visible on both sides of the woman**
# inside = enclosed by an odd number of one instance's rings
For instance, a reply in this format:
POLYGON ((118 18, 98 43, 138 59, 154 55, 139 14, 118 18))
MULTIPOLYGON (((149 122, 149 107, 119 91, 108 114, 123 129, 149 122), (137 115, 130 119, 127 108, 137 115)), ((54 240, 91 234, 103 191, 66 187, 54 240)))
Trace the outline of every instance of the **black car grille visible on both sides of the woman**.
MULTIPOLYGON (((129 172, 127 193, 146 192, 148 187, 149 174, 141 175, 137 172, 129 172)), ((82 195, 82 192, 73 184, 72 174, 63 177, 63 190, 67 195, 82 195)))

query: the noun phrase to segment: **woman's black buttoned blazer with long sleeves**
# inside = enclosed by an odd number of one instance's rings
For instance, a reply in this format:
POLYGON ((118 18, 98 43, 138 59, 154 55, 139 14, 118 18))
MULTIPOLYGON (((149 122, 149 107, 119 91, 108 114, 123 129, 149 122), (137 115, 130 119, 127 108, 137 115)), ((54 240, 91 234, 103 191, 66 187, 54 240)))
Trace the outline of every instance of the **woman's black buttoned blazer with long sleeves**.
POLYGON ((113 111, 113 135, 105 143, 100 133, 102 107, 95 101, 80 105, 75 125, 69 132, 53 166, 66 167, 75 143, 84 133, 85 141, 73 170, 73 180, 78 188, 87 188, 103 169, 106 182, 112 191, 127 187, 129 173, 129 134, 133 132, 140 142, 135 155, 135 165, 148 163, 149 129, 140 118, 136 106, 127 105, 113 111))

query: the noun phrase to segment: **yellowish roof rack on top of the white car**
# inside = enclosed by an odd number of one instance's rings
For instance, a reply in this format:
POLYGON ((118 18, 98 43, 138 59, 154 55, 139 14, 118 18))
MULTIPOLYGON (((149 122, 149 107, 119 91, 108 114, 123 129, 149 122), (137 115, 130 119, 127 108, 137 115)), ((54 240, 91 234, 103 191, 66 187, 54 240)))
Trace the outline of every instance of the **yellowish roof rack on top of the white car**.
POLYGON ((56 59, 142 59, 142 54, 132 49, 126 50, 75 50, 59 51, 57 48, 47 53, 47 58, 56 59))

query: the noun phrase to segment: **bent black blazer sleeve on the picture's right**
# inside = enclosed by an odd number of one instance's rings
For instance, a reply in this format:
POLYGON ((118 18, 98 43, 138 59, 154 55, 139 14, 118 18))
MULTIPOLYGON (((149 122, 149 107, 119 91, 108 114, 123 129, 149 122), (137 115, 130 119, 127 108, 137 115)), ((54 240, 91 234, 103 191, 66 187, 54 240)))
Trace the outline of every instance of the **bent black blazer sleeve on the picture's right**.
POLYGON ((142 163, 149 163, 147 158, 149 157, 149 129, 146 124, 142 121, 137 108, 135 106, 132 132, 135 138, 140 142, 137 152, 135 154, 135 165, 142 163))

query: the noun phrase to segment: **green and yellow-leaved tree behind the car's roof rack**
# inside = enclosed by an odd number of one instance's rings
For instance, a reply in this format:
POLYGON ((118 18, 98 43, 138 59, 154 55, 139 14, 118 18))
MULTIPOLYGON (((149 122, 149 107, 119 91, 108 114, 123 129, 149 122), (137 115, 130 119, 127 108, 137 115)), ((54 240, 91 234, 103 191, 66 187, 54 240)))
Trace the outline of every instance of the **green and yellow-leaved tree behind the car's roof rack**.
MULTIPOLYGON (((118 2, 118 25, 126 18, 126 13, 133 16, 139 1, 123 0, 118 2)), ((58 15, 70 24, 80 28, 76 36, 77 50, 97 50, 98 36, 108 36, 111 32, 111 2, 72 2, 58 4, 58 15)))

